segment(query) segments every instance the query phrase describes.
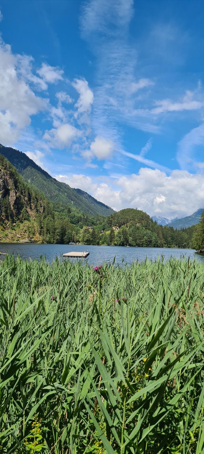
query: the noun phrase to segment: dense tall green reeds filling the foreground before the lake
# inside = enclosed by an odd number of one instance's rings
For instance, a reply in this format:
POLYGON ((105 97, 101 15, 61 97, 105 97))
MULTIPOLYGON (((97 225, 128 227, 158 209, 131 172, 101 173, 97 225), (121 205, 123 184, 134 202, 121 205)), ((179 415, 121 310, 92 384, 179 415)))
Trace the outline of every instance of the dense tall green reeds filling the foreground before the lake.
POLYGON ((37 450, 204 452, 204 264, 0 262, 0 453, 37 450))

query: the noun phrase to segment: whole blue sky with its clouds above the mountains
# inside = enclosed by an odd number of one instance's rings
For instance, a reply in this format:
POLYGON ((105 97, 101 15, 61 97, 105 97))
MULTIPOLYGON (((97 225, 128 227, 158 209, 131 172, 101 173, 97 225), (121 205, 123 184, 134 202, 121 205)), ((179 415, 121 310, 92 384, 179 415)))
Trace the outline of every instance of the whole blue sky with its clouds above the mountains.
POLYGON ((117 210, 204 207, 202 1, 0 11, 0 143, 117 210))

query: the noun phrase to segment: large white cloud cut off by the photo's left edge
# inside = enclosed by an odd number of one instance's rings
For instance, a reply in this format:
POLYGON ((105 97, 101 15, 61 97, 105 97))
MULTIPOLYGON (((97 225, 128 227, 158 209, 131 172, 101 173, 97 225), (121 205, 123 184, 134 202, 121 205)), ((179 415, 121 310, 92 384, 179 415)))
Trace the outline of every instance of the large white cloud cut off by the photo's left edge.
POLYGON ((0 142, 14 143, 31 115, 47 109, 46 99, 34 94, 18 73, 18 57, 0 41, 0 142))

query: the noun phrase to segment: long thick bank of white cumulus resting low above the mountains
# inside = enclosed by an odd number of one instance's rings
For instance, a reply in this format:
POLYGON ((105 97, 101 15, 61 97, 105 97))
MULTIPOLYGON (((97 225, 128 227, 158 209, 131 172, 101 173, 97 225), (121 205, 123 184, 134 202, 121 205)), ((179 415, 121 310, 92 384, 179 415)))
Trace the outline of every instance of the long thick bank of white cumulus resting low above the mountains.
POLYGON ((109 183, 98 183, 86 175, 57 175, 72 187, 79 187, 116 210, 131 207, 151 216, 169 219, 185 217, 204 207, 204 178, 199 174, 174 170, 167 176, 160 170, 141 168, 138 174, 123 176, 109 183))

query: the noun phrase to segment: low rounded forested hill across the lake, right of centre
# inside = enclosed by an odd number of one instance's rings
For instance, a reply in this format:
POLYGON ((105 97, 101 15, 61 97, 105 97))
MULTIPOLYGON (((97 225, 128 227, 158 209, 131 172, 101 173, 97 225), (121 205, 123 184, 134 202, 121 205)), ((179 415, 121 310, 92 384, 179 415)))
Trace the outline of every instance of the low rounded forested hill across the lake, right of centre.
POLYGON ((83 228, 81 238, 85 244, 185 248, 192 247, 194 228, 176 230, 158 225, 145 212, 126 208, 104 217, 91 231, 83 228))

